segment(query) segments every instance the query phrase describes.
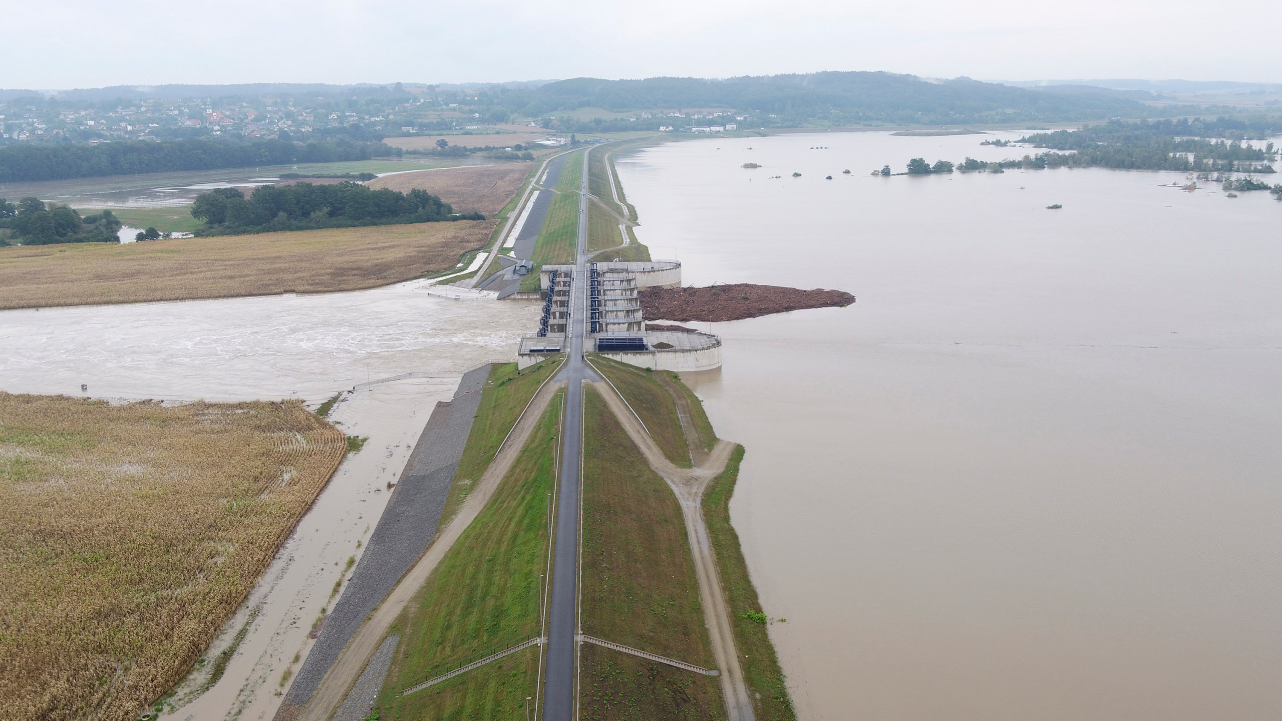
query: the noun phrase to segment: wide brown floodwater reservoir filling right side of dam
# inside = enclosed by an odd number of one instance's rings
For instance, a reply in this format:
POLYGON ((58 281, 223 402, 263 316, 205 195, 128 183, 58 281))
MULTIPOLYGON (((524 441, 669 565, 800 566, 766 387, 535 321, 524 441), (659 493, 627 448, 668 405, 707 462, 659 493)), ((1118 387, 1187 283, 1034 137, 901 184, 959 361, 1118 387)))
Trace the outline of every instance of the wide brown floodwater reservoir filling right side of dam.
POLYGON ((732 518, 800 716, 1277 718, 1282 203, 1163 187, 1182 173, 869 177, 1026 151, 983 137, 619 159, 687 284, 859 298, 695 323, 726 341, 692 382, 747 448, 732 518))

